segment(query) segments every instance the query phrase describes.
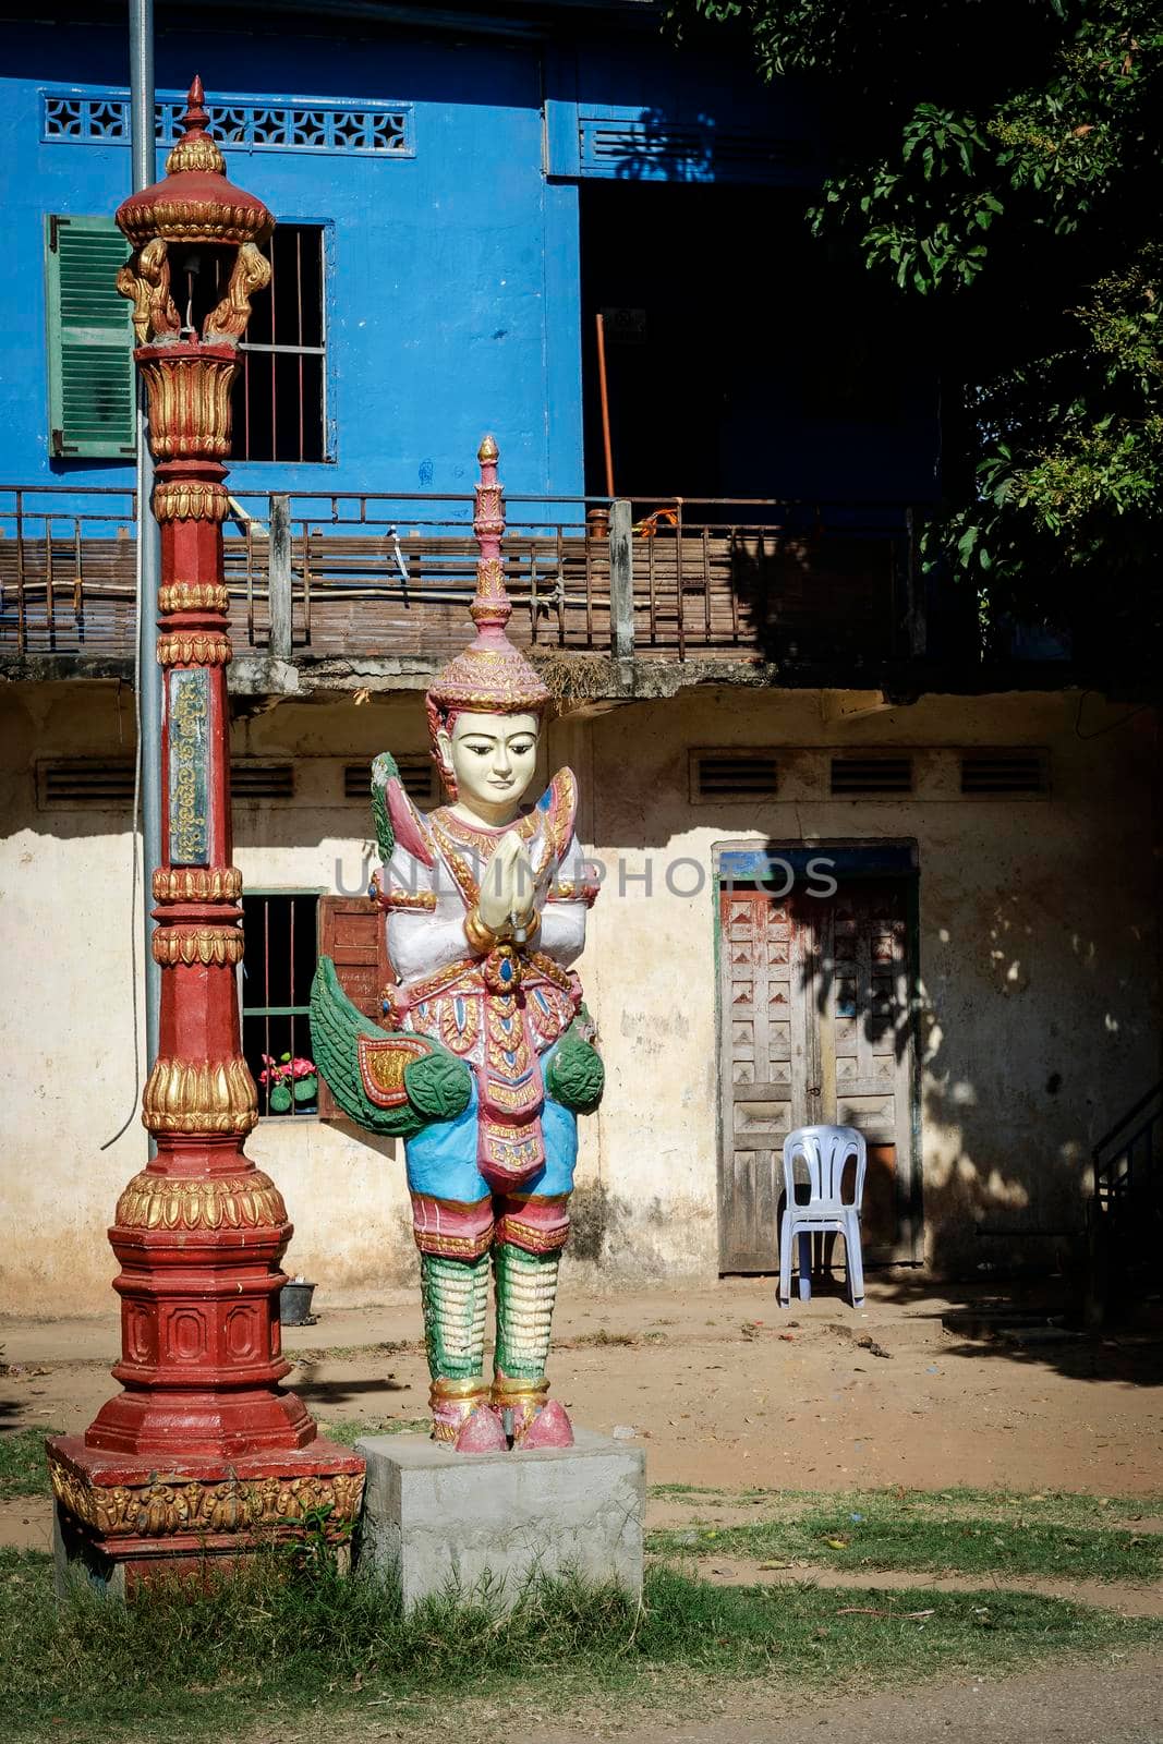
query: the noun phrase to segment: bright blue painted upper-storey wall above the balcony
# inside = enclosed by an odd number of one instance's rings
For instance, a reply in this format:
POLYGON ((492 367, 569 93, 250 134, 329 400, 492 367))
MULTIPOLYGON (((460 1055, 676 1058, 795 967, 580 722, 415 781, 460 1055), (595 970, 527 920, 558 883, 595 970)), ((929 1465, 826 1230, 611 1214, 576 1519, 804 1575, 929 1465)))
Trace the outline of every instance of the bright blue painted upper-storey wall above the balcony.
MULTIPOLYGON (((406 33, 359 40, 328 35, 323 19, 316 28, 309 35, 310 23, 291 14, 281 35, 157 40, 159 91, 185 89, 201 72, 211 101, 232 92, 413 105, 413 157, 227 146, 230 176, 277 218, 330 227, 331 460, 235 462, 234 490, 460 492, 492 429, 511 494, 581 492, 584 178, 715 180, 725 173, 717 140, 743 126, 790 143, 746 174, 802 185, 814 173, 809 117, 792 94, 772 105, 748 73, 682 61, 652 38, 610 51, 406 33), (621 164, 595 145, 595 127, 619 119, 638 126, 621 164), (654 131, 645 153, 642 127, 654 131), (664 148, 659 160, 659 127, 685 127, 684 150, 664 148)), ((129 190, 129 148, 42 141, 40 92, 124 89, 126 37, 112 26, 14 24, 0 59, 0 483, 124 485, 124 464, 49 457, 42 256, 45 213, 115 209, 129 190)), ((734 162, 738 178, 738 146, 734 162)), ((159 153, 159 174, 162 164, 159 153)), ((905 476, 877 478, 893 487, 886 494, 931 490, 929 412, 922 396, 898 445, 905 476)), ((750 471, 760 476, 762 429, 755 443, 750 471)), ((860 488, 856 452, 851 460, 832 445, 832 494, 860 488)))

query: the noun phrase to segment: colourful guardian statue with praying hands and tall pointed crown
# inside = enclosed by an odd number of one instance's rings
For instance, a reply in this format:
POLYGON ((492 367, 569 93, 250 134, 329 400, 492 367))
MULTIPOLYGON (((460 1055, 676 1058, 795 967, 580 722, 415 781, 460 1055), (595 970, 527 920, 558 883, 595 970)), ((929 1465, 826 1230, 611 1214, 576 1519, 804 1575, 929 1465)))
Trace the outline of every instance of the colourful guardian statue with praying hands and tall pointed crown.
POLYGON ((506 635, 497 445, 479 450, 476 640, 427 694, 448 804, 424 816, 377 757, 371 806, 396 980, 371 1024, 323 957, 316 1062, 338 1106, 405 1139, 432 1376, 432 1437, 460 1453, 567 1448, 547 1399, 549 1324, 568 1236, 577 1114, 602 1060, 572 970, 596 886, 575 835, 577 785, 558 771, 527 806, 549 692, 506 635), (485 1376, 495 1277, 497 1338, 485 1376))

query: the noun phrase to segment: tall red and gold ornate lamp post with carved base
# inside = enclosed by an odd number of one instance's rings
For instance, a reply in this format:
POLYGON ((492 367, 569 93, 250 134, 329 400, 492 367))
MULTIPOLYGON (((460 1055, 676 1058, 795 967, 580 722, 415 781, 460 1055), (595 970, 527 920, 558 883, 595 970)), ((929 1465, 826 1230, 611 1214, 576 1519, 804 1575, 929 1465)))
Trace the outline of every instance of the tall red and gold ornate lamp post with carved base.
POLYGON ((227 181, 194 80, 166 176, 117 223, 119 274, 150 399, 160 523, 162 865, 153 957, 159 1055, 141 1120, 157 1156, 117 1203, 122 1392, 82 1435, 49 1442, 61 1543, 126 1591, 157 1570, 237 1556, 310 1523, 342 1536, 363 1460, 319 1439, 279 1381, 282 1196, 244 1155, 258 1120, 242 1059, 235 968, 242 877, 232 862, 227 589, 230 387, 249 298, 270 281, 274 218, 227 181))

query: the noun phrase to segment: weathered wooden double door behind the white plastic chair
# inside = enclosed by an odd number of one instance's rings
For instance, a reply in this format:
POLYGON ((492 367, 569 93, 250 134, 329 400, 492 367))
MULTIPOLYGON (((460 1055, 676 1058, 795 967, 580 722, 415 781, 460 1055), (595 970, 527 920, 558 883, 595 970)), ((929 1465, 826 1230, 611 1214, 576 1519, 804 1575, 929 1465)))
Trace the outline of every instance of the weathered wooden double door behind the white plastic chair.
POLYGON ((779 1263, 783 1141, 820 1121, 868 1141, 865 1257, 912 1259, 908 882, 832 898, 720 896, 720 1270, 779 1263))

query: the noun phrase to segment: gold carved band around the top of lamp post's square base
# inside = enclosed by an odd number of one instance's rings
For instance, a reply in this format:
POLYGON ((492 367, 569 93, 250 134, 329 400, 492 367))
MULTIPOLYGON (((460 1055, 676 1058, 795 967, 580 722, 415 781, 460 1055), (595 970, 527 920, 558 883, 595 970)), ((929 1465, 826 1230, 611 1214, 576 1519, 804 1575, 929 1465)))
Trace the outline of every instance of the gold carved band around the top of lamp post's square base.
POLYGON ((49 1479, 65 1512, 101 1538, 286 1531, 309 1516, 321 1517, 328 1536, 342 1538, 363 1503, 363 1472, 220 1482, 162 1475, 143 1484, 94 1484, 51 1453, 49 1479))

